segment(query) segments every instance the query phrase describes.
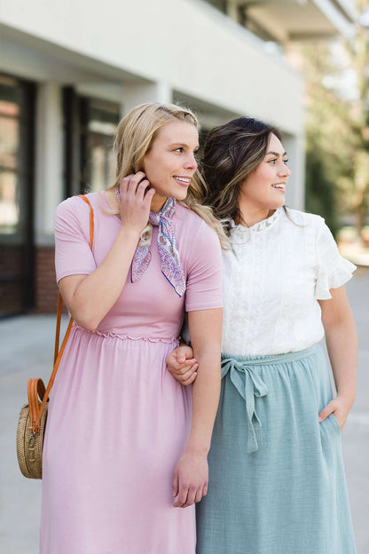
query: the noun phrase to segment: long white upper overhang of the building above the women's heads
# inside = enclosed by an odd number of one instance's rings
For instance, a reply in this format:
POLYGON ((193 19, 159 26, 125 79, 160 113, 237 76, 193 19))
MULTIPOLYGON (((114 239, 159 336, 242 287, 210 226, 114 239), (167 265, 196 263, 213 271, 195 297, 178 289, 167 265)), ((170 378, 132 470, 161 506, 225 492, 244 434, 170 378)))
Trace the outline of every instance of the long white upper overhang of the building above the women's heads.
POLYGON ((0 23, 4 72, 74 86, 162 83, 210 113, 302 134, 302 76, 207 3, 105 0, 101 10, 98 0, 12 0, 0 23))

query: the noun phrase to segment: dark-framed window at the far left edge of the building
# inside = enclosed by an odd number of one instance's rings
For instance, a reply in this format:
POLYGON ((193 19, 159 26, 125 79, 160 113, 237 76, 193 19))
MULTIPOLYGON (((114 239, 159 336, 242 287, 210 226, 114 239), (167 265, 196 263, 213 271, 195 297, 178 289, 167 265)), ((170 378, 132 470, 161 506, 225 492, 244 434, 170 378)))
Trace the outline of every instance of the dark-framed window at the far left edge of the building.
POLYGON ((33 305, 35 85, 0 75, 0 316, 33 305))

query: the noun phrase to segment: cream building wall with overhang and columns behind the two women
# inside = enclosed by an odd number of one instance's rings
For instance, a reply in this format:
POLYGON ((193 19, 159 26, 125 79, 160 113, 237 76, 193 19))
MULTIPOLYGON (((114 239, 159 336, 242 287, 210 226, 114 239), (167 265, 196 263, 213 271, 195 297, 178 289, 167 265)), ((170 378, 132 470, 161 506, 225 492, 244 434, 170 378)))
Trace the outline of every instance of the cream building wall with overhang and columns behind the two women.
MULTIPOLYGON (((201 0, 12 0, 0 12, 0 73, 36 84, 36 297, 53 272, 53 216, 65 197, 63 87, 118 104, 180 100, 205 129, 239 115, 279 127, 303 208, 303 79, 279 53, 201 0), (39 264, 37 259, 43 259, 39 264), (37 292, 39 291, 39 292, 37 292)), ((40 305, 41 300, 36 300, 40 305)), ((53 309, 53 306, 52 306, 53 309)))

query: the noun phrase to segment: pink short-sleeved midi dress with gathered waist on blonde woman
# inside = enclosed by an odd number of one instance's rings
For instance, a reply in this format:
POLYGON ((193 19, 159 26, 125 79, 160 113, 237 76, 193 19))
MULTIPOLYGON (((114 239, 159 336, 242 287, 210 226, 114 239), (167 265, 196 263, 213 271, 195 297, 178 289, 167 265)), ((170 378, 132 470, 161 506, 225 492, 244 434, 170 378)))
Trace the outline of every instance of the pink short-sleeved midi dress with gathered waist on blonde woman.
MULTIPOLYGON (((102 263, 121 221, 104 193, 62 202, 55 223, 56 270, 89 274, 102 263)), ((74 323, 51 391, 43 449, 42 554, 194 554, 194 506, 174 508, 173 471, 192 419, 191 388, 169 374, 185 311, 222 306, 216 233, 177 204, 172 219, 185 272, 179 297, 152 259, 130 275, 116 304, 88 331, 74 323)))

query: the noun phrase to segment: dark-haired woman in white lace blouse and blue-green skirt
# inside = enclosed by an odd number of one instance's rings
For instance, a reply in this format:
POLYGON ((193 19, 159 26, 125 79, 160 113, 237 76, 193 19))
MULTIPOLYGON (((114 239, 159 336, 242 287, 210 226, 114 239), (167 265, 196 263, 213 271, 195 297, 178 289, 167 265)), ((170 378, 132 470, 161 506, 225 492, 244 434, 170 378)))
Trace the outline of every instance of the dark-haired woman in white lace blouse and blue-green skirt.
MULTIPOLYGON (((216 128, 201 166, 203 202, 232 248, 197 553, 354 554, 341 431, 355 397, 357 336, 344 289, 355 265, 323 218, 285 207, 290 170, 271 125, 240 117, 216 128)), ((185 384, 201 376, 192 355, 181 346, 168 360, 185 384)))

